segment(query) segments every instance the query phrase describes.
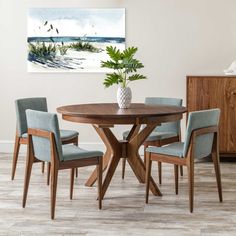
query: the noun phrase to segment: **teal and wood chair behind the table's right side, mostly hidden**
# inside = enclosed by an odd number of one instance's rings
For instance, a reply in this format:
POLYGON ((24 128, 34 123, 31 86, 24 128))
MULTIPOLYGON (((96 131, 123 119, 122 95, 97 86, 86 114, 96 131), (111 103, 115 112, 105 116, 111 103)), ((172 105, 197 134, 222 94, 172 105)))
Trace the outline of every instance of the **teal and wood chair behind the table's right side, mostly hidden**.
MULTIPOLYGON (((165 97, 147 97, 145 98, 145 104, 147 105, 171 105, 171 106, 182 106, 182 99, 180 98, 165 98, 165 97)), ((129 131, 123 133, 123 139, 127 140, 129 131)), ((149 137, 143 143, 144 146, 144 163, 146 160, 145 149, 148 146, 161 147, 163 145, 181 141, 181 129, 180 121, 162 123, 157 126, 154 131, 149 135, 149 137)), ((125 165, 126 158, 122 161, 122 179, 125 176, 125 165)), ((180 167, 180 174, 183 176, 183 168, 180 167)), ((162 164, 158 162, 158 177, 159 183, 162 183, 162 164)))

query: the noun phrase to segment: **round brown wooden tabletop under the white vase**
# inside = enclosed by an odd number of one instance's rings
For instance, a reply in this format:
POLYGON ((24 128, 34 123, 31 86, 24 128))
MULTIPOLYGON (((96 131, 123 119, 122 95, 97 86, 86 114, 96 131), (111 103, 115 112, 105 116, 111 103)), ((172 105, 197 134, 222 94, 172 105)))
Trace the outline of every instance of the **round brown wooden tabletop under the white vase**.
POLYGON ((145 124, 150 119, 160 118, 162 122, 175 121, 182 116, 185 107, 146 105, 132 103, 128 109, 120 109, 117 103, 77 104, 58 107, 63 119, 78 123, 92 124, 145 124))

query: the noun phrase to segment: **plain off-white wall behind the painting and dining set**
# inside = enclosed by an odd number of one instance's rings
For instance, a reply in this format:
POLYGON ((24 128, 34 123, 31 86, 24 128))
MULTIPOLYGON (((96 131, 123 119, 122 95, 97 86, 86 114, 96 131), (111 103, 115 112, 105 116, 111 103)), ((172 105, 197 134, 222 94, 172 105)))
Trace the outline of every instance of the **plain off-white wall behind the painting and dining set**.
MULTIPOLYGON (((14 140, 17 98, 46 96, 53 112, 65 104, 116 101, 116 87, 103 88, 104 74, 27 73, 30 7, 125 7, 127 46, 139 47, 148 77, 131 84, 134 102, 185 100, 186 74, 219 74, 236 58, 235 0, 0 0, 0 152, 14 140)), ((88 125, 61 121, 61 127, 78 129, 83 143, 100 142, 88 125)))

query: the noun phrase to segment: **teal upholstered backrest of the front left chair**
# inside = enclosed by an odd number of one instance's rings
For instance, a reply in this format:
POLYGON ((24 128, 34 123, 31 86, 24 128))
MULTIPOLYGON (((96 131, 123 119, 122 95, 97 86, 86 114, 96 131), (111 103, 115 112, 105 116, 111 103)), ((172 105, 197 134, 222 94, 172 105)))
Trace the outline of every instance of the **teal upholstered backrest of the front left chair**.
MULTIPOLYGON (((46 130, 54 133, 55 144, 59 161, 63 161, 62 144, 59 131, 58 118, 56 114, 26 110, 28 128, 46 130)), ((32 136, 34 155, 41 161, 51 160, 50 140, 39 136, 32 136)))

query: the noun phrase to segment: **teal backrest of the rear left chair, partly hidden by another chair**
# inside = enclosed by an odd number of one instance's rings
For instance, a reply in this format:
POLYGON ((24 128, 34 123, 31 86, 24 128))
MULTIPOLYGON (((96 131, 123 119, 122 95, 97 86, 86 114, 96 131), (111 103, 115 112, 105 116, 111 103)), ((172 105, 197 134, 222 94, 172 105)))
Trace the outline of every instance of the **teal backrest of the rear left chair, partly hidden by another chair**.
POLYGON ((27 121, 25 111, 27 109, 47 111, 47 100, 45 97, 22 98, 15 101, 18 135, 27 133, 27 121))

